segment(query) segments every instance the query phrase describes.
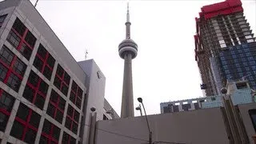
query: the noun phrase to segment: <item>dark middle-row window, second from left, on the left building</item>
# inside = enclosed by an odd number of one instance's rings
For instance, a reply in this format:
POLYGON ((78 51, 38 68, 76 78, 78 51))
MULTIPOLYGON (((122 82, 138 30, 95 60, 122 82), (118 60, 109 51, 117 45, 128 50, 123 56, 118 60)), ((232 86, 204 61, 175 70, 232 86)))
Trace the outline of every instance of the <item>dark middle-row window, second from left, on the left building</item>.
POLYGON ((42 78, 39 78, 38 75, 31 70, 30 76, 26 82, 25 90, 23 92, 23 97, 42 110, 48 87, 49 86, 46 84, 46 82, 44 82, 42 78))

